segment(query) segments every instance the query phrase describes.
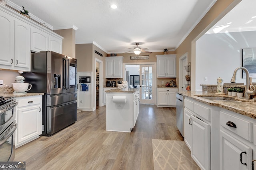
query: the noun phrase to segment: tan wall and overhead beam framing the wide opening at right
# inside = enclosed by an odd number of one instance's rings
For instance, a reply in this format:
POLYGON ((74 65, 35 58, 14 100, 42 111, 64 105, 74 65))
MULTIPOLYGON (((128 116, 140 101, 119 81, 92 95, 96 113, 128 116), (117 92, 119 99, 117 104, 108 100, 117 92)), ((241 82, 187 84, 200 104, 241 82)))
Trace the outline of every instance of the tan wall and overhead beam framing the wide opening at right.
MULTIPOLYGON (((195 90, 195 41, 198 40, 203 34, 205 34, 214 24, 216 24, 223 16, 225 16, 234 6, 236 6, 241 0, 217 0, 207 14, 202 18, 198 25, 192 30, 187 38, 176 49, 176 73, 179 77, 179 57, 188 53, 188 62, 191 61, 191 90, 195 90)), ((178 79, 177 79, 178 81, 178 79)))

